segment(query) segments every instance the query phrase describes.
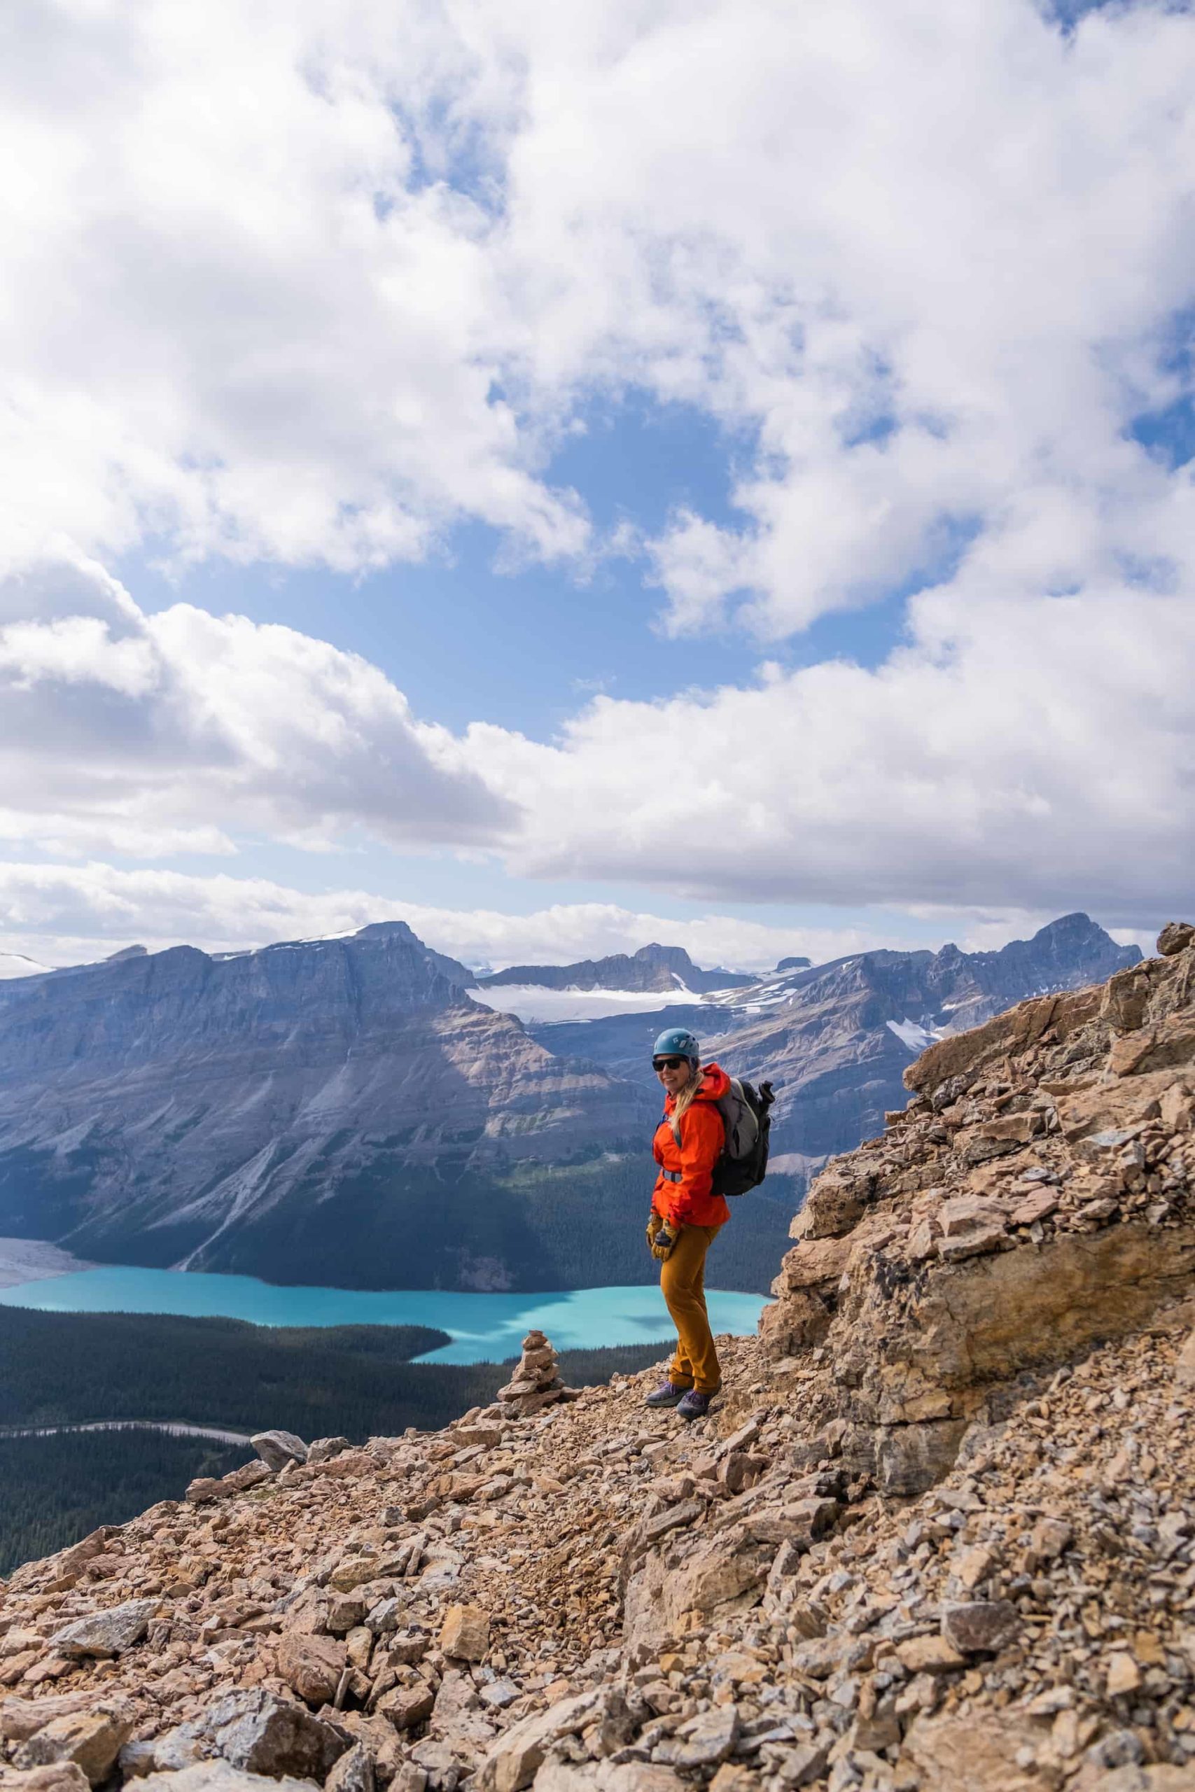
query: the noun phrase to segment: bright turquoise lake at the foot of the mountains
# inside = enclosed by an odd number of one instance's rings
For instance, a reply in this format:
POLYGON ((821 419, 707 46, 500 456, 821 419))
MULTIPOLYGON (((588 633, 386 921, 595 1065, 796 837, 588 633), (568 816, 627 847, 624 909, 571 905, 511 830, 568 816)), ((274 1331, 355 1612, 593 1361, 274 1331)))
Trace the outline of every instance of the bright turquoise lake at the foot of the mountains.
MULTIPOLYGON (((715 1331, 754 1331, 761 1294, 706 1292, 715 1331)), ((419 1362, 486 1362, 518 1353, 539 1326, 557 1349, 665 1344, 672 1322, 658 1287, 563 1294, 444 1294, 435 1288, 279 1288, 253 1276, 104 1265, 0 1288, 0 1305, 47 1314, 190 1314, 258 1326, 437 1326, 451 1344, 419 1362)))

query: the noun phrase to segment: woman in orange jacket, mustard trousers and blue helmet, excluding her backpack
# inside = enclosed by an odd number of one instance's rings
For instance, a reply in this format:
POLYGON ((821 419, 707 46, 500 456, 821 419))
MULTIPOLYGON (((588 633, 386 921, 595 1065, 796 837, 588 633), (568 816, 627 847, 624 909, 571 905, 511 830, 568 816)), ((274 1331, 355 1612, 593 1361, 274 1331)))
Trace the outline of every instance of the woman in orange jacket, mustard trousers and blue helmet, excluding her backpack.
POLYGON ((665 1086, 665 1116, 652 1142, 659 1176, 647 1242, 661 1263, 659 1287, 677 1328, 677 1348, 668 1380, 647 1396, 647 1405, 704 1419, 722 1387, 706 1314, 706 1251, 731 1217, 722 1195, 713 1193, 713 1167, 726 1143, 715 1102, 731 1079, 717 1064, 702 1070, 701 1047, 683 1027, 659 1034, 652 1070, 665 1086))

